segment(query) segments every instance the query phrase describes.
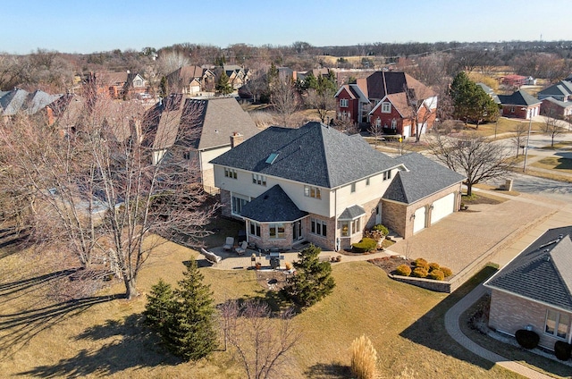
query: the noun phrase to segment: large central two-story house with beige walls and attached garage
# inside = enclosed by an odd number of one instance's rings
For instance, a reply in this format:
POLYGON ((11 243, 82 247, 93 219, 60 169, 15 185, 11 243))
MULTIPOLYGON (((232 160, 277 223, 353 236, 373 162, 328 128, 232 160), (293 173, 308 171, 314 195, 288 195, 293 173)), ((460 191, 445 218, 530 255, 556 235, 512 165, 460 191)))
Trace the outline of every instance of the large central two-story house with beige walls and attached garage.
POLYGON ((458 210, 465 179, 320 122, 270 127, 211 163, 223 215, 243 220, 258 248, 350 248, 376 223, 407 238, 458 210))

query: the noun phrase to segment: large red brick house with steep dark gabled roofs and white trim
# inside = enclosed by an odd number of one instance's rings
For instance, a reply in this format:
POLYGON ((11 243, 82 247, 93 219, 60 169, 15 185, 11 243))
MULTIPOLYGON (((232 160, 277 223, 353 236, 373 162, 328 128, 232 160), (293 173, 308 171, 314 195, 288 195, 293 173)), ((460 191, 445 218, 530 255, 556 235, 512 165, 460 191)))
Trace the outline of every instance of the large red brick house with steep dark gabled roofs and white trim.
POLYGON ((405 72, 374 72, 341 86, 335 98, 339 120, 349 120, 362 129, 382 126, 387 134, 403 137, 430 130, 437 109, 433 90, 405 72))

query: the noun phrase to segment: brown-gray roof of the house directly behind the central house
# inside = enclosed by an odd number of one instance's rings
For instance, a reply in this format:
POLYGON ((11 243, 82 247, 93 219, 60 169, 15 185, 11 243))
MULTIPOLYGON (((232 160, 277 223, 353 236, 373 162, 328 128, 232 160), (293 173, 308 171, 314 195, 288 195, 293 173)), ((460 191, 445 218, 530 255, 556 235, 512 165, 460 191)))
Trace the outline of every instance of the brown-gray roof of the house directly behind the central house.
POLYGON ((172 95, 157 104, 149 118, 151 128, 156 129, 154 149, 172 147, 181 125, 197 133, 186 143, 198 150, 230 146, 233 133, 249 139, 258 132, 256 123, 234 97, 193 99, 172 95))

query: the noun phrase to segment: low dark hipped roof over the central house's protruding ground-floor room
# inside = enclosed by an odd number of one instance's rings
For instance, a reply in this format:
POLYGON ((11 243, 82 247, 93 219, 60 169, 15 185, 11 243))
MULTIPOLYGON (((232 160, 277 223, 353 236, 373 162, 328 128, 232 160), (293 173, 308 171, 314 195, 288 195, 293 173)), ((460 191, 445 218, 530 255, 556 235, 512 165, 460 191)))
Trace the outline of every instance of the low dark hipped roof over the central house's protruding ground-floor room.
POLYGON ((301 211, 282 187, 276 184, 242 206, 240 215, 259 223, 279 223, 299 220, 305 217, 307 212, 301 211))

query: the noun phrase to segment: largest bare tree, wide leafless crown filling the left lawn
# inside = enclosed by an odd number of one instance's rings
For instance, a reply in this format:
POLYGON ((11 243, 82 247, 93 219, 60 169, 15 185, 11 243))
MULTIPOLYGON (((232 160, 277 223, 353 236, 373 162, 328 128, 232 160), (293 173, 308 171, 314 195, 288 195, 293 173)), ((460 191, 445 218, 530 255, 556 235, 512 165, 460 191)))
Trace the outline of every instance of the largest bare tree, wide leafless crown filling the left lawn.
POLYGON ((156 151, 166 141, 192 139, 194 115, 185 115, 188 127, 156 129, 140 106, 97 98, 71 124, 22 116, 0 130, 13 178, 0 190, 28 200, 37 240, 65 246, 84 269, 113 271, 127 299, 138 293, 141 266, 164 242, 156 235, 199 237, 210 215, 198 166, 183 158, 186 147, 156 151))

